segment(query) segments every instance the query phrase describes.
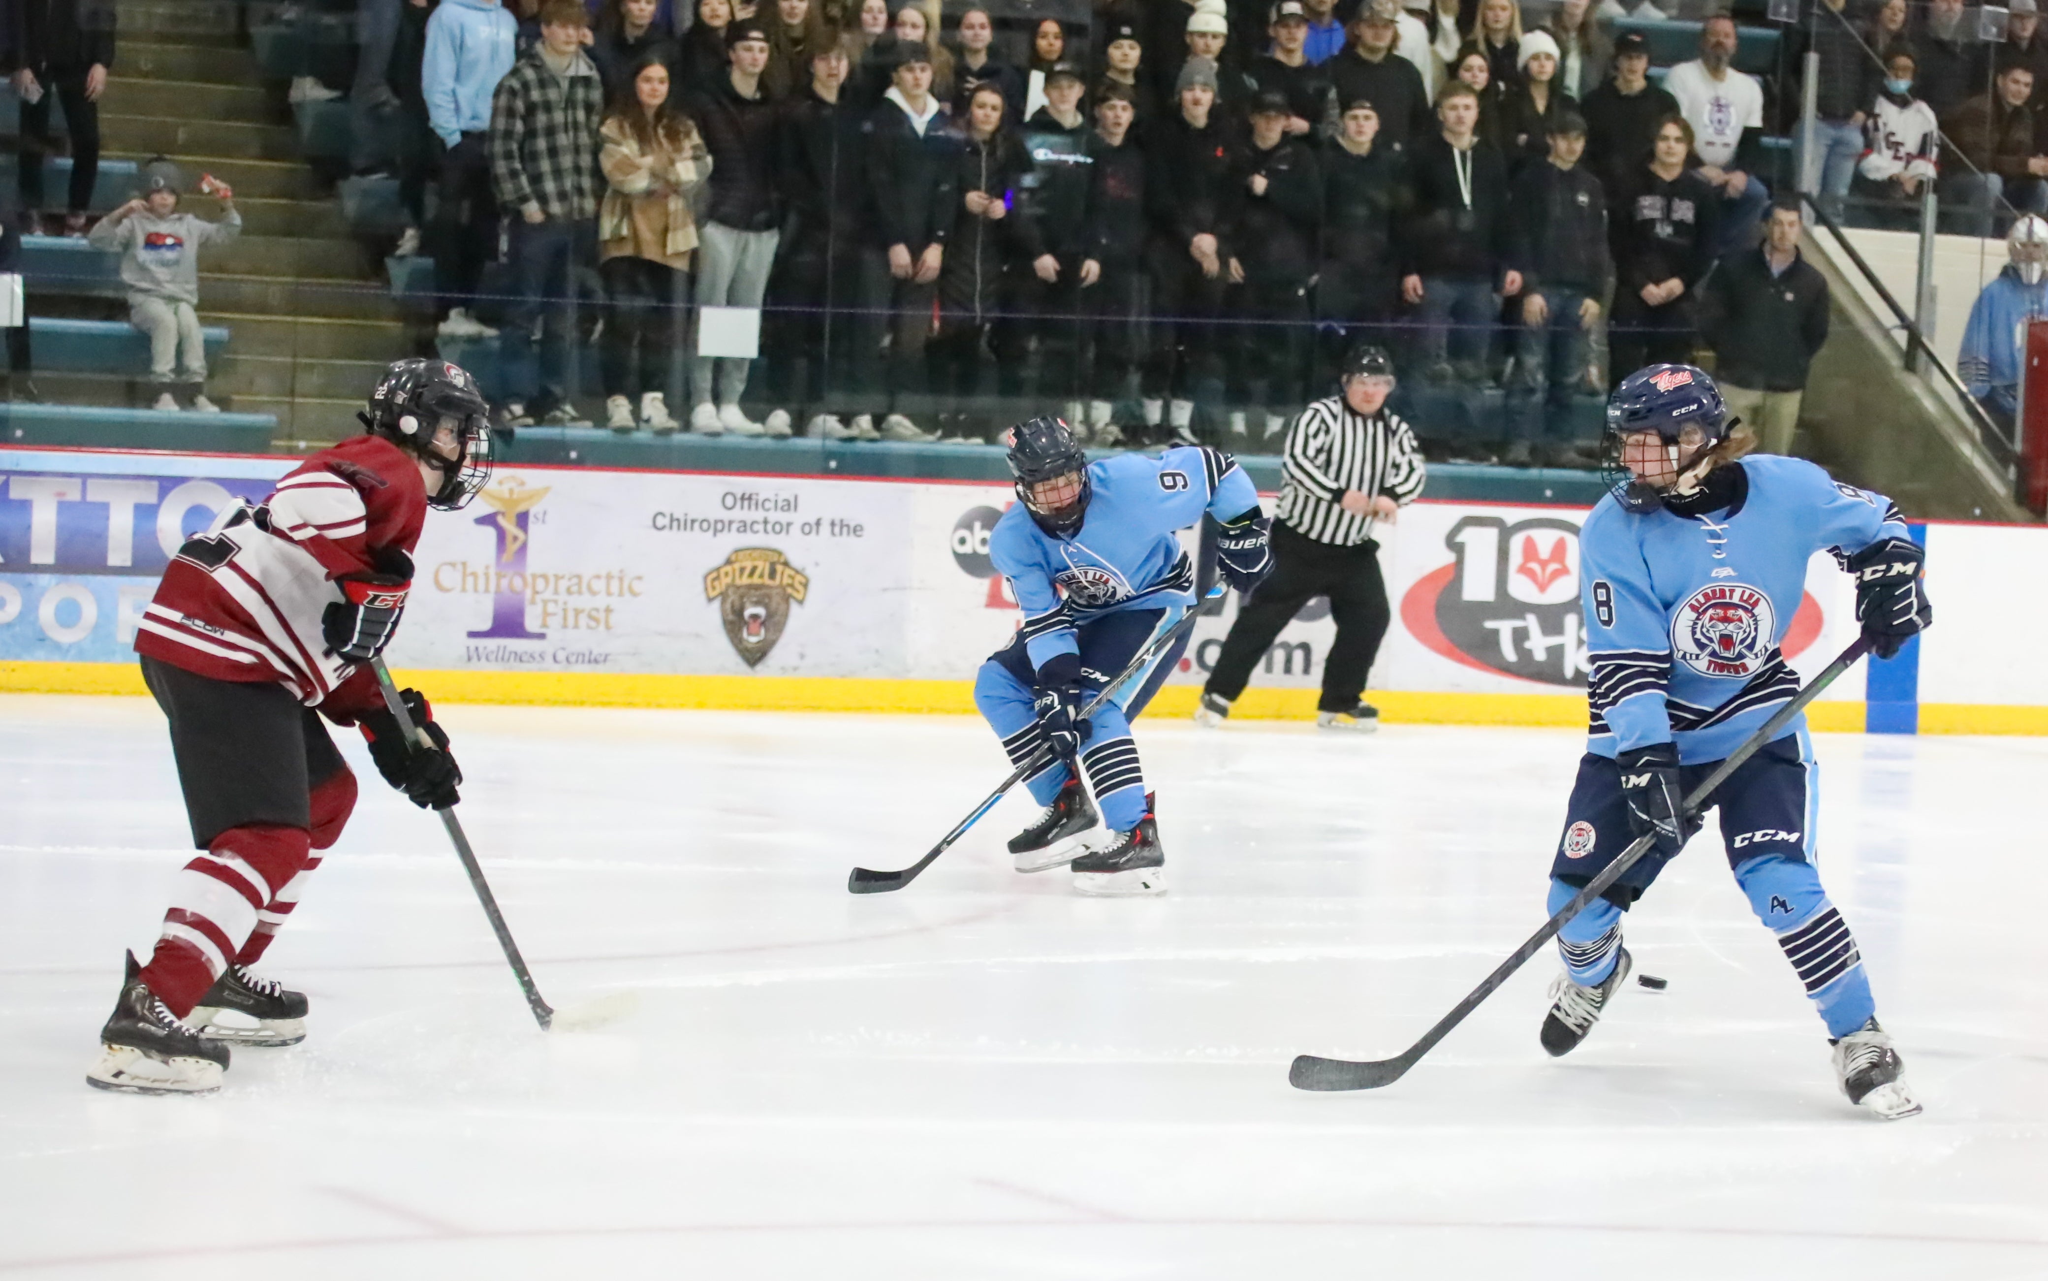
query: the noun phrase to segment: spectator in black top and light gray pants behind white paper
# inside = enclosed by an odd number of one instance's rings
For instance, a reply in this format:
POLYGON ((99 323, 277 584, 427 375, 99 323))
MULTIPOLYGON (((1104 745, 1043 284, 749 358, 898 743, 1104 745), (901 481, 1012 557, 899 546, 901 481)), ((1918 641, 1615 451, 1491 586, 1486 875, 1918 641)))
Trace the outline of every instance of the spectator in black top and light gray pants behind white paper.
MULTIPOLYGON (((760 82, 768 66, 768 31, 760 23, 731 23, 725 51, 731 72, 698 94, 690 111, 711 150, 711 207, 700 228, 696 305, 760 307, 782 240, 774 176, 776 109, 760 82)), ((741 412, 750 369, 752 361, 737 357, 696 357, 690 430, 707 437, 791 435, 784 410, 772 412, 766 426, 741 412)))

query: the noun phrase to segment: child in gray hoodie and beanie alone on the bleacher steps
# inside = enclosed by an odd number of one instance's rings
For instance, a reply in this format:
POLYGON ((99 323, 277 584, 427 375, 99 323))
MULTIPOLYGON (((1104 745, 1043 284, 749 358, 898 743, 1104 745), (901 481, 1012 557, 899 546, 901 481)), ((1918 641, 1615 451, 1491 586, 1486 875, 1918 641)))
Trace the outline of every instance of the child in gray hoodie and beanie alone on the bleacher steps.
POLYGON ((182 367, 190 408, 217 414, 207 400, 207 348, 199 332, 199 248, 227 244, 242 234, 236 193, 207 178, 205 191, 221 201, 221 221, 178 213, 182 176, 158 156, 141 170, 143 195, 102 217, 86 240, 121 252, 121 281, 129 287, 129 324, 150 336, 152 408, 176 410, 172 385, 182 367))

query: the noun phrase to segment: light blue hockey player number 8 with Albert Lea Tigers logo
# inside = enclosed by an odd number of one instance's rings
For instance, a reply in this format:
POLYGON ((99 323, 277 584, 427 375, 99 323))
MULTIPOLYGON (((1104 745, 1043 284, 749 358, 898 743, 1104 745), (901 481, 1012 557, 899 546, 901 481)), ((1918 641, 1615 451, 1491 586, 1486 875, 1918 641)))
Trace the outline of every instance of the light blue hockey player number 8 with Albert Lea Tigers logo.
MULTIPOLYGON (((1700 830, 1681 797, 1798 693, 1780 644, 1815 551, 1855 576, 1855 615, 1878 656, 1929 619, 1923 553, 1886 498, 1788 457, 1743 457, 1692 365, 1628 375, 1608 404, 1614 488, 1579 535, 1591 662, 1591 742, 1550 865, 1550 912, 1634 838, 1655 849, 1559 933, 1542 1045, 1567 1053, 1628 978, 1622 912, 1700 830)), ((1909 1117, 1898 1053, 1878 1027, 1855 937, 1821 887, 1817 773, 1804 719, 1712 795, 1735 879, 1806 986, 1835 1047, 1843 1094, 1909 1117)))

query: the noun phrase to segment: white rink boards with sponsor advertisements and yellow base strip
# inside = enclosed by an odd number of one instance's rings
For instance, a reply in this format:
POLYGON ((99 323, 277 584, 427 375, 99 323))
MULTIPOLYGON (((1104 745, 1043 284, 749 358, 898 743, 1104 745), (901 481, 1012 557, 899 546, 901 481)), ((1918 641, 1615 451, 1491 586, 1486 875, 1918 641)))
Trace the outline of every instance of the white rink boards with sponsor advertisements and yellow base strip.
MULTIPOLYGON (((293 467, 268 455, 0 449, 0 689, 141 693, 135 619, 178 543, 293 467)), ((987 535, 1008 486, 506 467, 432 512, 393 668, 436 699, 971 711, 1016 605, 987 535)), ((1395 611, 1370 699, 1391 721, 1585 721, 1583 508, 1417 502, 1380 529, 1395 611)), ((1190 539, 1192 533, 1184 535, 1190 539)), ((1864 664, 1819 730, 2044 734, 2048 531, 1917 525, 1937 625, 1864 664)), ((1333 635, 1313 601, 1241 717, 1309 717, 1333 635)), ((1188 713, 1235 615, 1204 619, 1155 715, 1188 713)), ((1853 588, 1808 566, 1784 648, 1815 672, 1853 588)))

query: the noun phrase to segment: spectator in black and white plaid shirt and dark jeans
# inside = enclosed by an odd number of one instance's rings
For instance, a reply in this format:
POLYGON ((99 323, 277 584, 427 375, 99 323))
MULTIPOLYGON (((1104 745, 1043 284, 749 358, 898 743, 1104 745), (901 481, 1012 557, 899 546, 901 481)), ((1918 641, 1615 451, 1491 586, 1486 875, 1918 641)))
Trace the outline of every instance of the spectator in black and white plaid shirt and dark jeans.
POLYGON ((584 55, 590 16, 580 0, 547 0, 541 43, 492 96, 492 187, 512 219, 514 303, 504 344, 504 422, 588 426, 575 385, 575 277, 588 268, 598 217, 598 123, 604 88, 584 55), (541 367, 532 328, 541 320, 541 367), (528 404, 528 394, 532 400, 528 404))

